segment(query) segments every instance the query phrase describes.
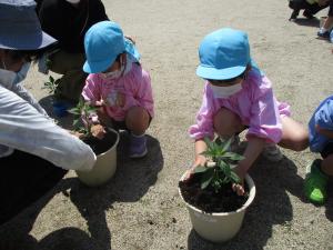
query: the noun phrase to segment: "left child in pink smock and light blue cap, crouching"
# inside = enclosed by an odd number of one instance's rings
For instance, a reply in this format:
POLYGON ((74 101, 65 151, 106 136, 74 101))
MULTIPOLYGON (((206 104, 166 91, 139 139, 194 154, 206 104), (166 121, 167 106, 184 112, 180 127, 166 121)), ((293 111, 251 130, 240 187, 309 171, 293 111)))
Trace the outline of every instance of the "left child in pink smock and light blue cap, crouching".
MULTIPOLYGON (((150 76, 141 68, 135 47, 123 37, 118 23, 102 21, 88 30, 84 49, 83 70, 90 74, 82 96, 90 104, 102 107, 94 123, 129 130, 130 157, 144 157, 145 130, 154 110, 150 76)), ((102 128, 94 126, 93 133, 102 137, 102 128)))

